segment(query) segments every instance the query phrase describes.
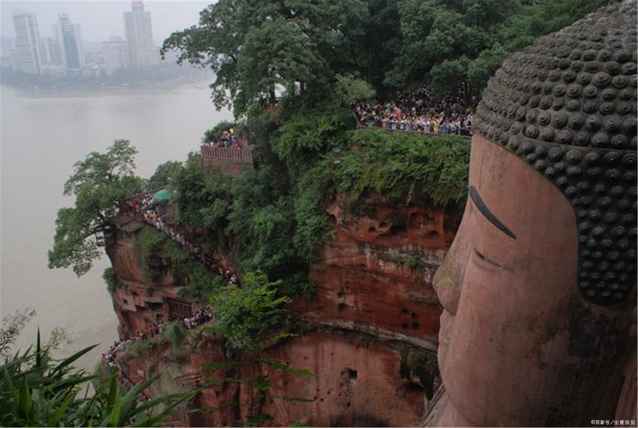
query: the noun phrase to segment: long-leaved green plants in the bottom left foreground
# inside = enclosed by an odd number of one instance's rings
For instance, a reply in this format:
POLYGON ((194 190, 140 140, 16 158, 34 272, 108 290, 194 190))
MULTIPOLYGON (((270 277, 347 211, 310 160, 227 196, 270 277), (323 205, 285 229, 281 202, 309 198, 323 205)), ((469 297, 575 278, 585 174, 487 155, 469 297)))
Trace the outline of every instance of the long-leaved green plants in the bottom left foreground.
POLYGON ((138 402, 136 399, 157 376, 122 390, 112 374, 89 397, 87 382, 97 375, 71 366, 95 346, 62 360, 53 360, 47 348, 29 348, 0 365, 0 425, 3 427, 150 427, 159 424, 195 391, 169 394, 138 402), (85 390, 82 394, 82 390, 85 390), (158 409, 156 415, 147 411, 158 409))

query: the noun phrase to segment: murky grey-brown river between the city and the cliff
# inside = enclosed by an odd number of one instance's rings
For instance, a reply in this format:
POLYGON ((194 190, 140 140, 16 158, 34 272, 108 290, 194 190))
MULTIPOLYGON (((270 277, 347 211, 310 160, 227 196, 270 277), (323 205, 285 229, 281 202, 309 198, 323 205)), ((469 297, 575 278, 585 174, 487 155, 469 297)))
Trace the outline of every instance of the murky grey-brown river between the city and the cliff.
MULTIPOLYGON (((199 86, 199 85, 198 85, 199 86)), ((56 213, 71 206, 64 181, 73 164, 91 151, 105 151, 114 139, 130 139, 139 153, 137 174, 148 178, 167 160, 185 160, 198 149, 204 130, 232 119, 215 111, 209 89, 103 89, 17 91, 1 87, 0 313, 33 307, 37 316, 17 347, 34 342, 55 326, 73 342, 61 355, 100 343, 78 366, 93 369, 117 338, 117 317, 101 279, 106 255, 83 277, 49 270, 56 213)))

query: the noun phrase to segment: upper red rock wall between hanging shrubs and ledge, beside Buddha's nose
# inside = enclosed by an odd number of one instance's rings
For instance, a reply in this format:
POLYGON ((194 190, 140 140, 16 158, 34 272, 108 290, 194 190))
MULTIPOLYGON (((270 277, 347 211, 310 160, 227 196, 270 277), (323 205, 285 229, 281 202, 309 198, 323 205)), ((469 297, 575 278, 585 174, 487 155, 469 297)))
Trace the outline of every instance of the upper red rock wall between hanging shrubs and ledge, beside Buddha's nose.
POLYGON ((337 201, 328 211, 334 235, 310 271, 317 292, 311 302, 297 300, 294 309, 322 323, 436 349, 441 310, 432 278, 454 240, 459 214, 382 201, 367 201, 356 212, 337 201))

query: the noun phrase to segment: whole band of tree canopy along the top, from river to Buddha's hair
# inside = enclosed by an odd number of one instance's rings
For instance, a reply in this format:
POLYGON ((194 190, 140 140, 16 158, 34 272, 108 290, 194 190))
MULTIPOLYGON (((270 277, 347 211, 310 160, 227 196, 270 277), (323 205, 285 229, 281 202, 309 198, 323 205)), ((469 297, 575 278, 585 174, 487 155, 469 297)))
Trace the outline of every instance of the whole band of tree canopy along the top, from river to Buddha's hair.
POLYGON ((609 1, 220 0, 162 51, 210 67, 214 102, 237 116, 278 89, 316 102, 348 73, 376 91, 426 84, 479 96, 506 56, 609 1))

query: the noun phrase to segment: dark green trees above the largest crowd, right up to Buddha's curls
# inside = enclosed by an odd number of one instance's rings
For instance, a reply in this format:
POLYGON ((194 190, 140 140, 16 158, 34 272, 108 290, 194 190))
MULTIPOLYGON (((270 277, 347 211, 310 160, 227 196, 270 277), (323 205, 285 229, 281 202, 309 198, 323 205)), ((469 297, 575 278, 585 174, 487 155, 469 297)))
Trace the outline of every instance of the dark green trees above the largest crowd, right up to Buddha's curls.
POLYGON ((505 57, 609 0, 397 0, 399 41, 385 85, 480 95, 505 57), (468 65, 469 61, 469 65, 468 65), (461 73, 465 70, 466 73, 461 73), (446 79, 448 78, 448 79, 446 79))

